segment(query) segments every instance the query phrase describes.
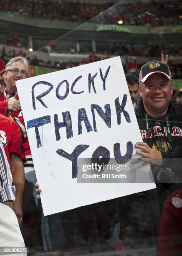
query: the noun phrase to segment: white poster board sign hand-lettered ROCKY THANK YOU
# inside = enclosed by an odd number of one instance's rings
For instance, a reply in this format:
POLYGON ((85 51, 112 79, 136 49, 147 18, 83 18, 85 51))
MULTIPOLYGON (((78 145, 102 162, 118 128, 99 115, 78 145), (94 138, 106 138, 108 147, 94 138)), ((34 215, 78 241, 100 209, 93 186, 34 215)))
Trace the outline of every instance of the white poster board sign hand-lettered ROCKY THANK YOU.
POLYGON ((137 172, 128 181, 77 183, 79 158, 130 164, 139 157, 134 144, 142 138, 120 57, 16 84, 45 215, 155 188, 148 180, 137 183, 137 172))

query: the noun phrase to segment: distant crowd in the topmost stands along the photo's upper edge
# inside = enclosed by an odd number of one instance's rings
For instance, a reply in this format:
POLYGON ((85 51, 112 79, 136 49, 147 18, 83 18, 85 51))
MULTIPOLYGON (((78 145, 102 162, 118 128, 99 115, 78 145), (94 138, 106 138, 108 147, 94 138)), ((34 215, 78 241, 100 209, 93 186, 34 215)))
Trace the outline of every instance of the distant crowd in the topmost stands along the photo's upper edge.
POLYGON ((0 10, 49 20, 85 22, 99 15, 99 18, 94 18, 94 22, 117 24, 122 19, 125 25, 176 26, 182 25, 181 3, 181 0, 154 0, 151 3, 137 2, 134 5, 118 3, 112 7, 114 4, 111 2, 101 5, 65 0, 49 0, 48 3, 43 0, 20 0, 16 4, 13 0, 1 0, 0 10), (105 13, 107 9, 109 10, 105 13))

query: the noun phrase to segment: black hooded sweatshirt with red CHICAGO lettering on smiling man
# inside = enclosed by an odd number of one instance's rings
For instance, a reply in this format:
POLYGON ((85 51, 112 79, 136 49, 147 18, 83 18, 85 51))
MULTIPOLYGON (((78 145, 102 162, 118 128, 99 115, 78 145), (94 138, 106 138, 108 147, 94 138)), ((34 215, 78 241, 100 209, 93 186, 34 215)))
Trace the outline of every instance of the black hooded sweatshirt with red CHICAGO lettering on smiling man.
POLYGON ((148 116, 150 138, 147 136, 145 113, 143 100, 139 97, 135 114, 143 141, 151 148, 161 151, 163 168, 171 168, 176 174, 182 173, 182 108, 177 102, 171 100, 166 115, 159 118, 148 116), (169 119, 171 138, 167 136, 167 118, 169 119))

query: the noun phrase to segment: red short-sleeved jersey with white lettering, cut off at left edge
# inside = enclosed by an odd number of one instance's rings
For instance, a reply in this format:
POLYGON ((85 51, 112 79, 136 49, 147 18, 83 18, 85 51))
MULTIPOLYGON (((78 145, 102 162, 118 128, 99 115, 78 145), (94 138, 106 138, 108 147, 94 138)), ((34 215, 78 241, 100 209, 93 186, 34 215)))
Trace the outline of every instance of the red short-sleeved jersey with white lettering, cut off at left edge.
POLYGON ((21 131, 13 119, 0 114, 0 138, 10 164, 10 153, 17 153, 25 162, 21 131))

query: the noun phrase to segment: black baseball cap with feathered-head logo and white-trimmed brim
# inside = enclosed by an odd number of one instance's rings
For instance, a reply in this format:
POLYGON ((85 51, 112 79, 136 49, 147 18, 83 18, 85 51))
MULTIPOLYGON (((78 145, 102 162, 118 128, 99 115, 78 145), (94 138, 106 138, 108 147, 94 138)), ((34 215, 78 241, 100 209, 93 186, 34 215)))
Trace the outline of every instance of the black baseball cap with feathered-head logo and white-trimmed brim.
POLYGON ((153 74, 162 74, 167 79, 172 79, 171 72, 167 64, 164 64, 162 61, 149 61, 141 67, 139 83, 145 82, 153 74))

